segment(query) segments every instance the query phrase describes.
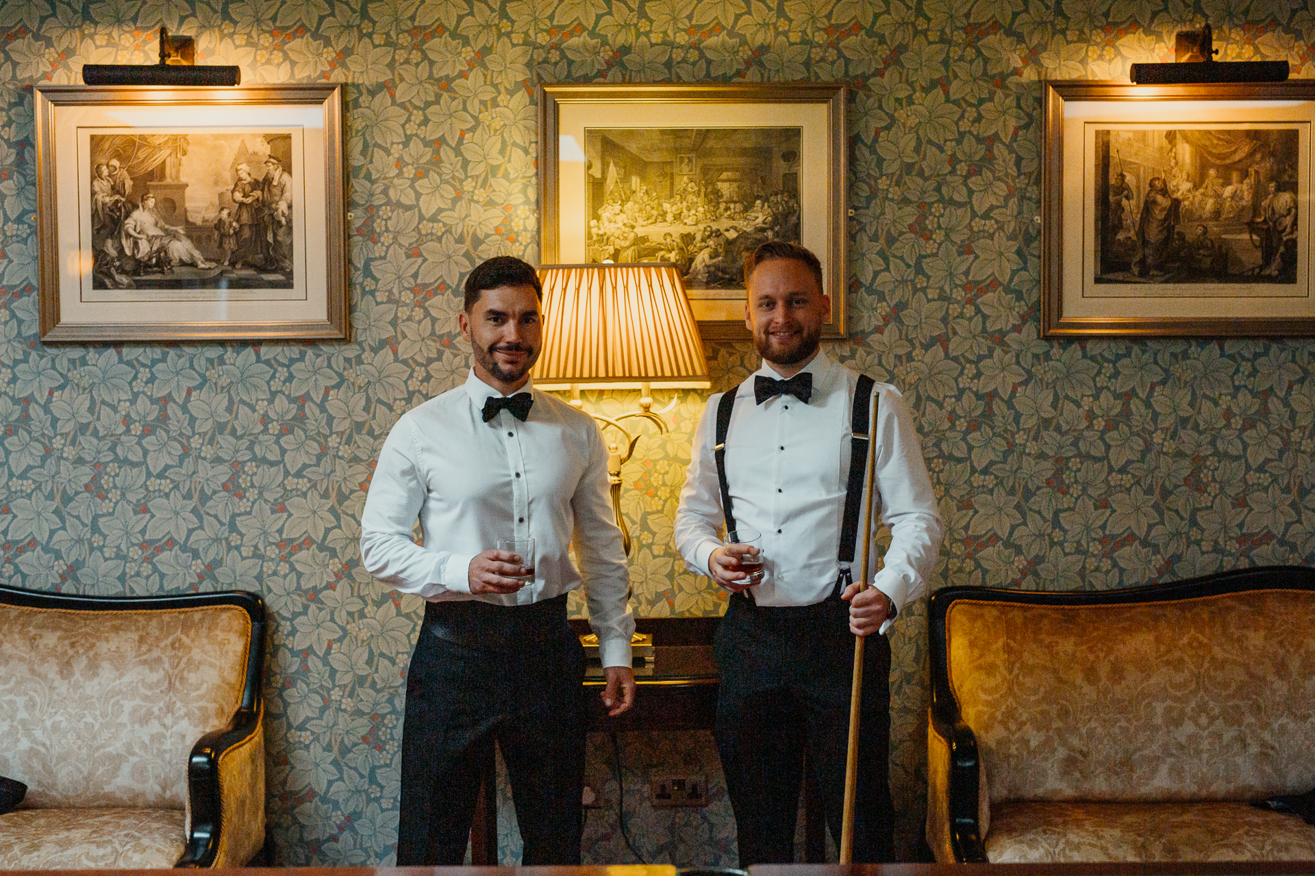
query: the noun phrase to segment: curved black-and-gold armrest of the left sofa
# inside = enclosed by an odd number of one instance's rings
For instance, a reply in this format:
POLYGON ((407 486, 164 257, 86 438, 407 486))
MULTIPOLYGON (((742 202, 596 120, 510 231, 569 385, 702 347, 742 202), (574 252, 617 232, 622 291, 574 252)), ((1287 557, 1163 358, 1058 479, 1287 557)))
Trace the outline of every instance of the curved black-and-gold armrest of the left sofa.
POLYGON ((264 729, 238 709, 206 733, 187 762, 187 850, 175 867, 243 867, 264 844, 264 729))

